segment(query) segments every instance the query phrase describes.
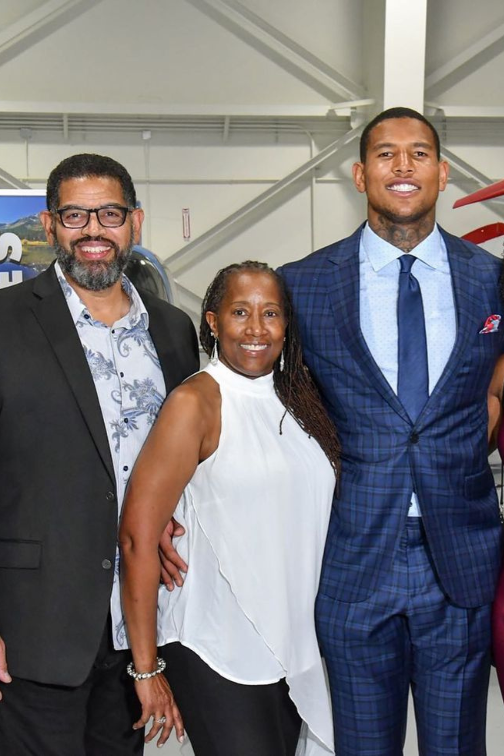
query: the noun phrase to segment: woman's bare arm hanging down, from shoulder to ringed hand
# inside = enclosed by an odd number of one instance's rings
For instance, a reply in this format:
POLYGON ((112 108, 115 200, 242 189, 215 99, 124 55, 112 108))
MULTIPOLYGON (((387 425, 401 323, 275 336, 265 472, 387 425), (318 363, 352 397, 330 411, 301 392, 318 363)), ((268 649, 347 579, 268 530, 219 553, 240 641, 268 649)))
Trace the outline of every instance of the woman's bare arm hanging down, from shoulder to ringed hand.
MULTIPOLYGON (((159 538, 199 461, 215 451, 220 434, 217 384, 200 374, 169 396, 131 474, 119 527, 122 605, 135 669, 156 669, 159 538)), ((159 744, 175 723, 176 706, 162 675, 135 683, 142 703, 141 727, 153 715, 167 717, 159 744), (175 714, 174 714, 175 712, 175 714)), ((150 730, 147 739, 159 732, 150 730)))

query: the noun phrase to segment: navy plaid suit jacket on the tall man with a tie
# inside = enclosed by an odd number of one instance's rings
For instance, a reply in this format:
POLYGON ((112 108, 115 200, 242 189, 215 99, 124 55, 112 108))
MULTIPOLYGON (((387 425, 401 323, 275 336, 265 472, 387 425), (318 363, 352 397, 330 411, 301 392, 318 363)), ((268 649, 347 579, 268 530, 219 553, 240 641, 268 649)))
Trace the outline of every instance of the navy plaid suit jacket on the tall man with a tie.
MULTIPOLYGON (((459 606, 493 600, 501 525, 487 462, 487 386, 502 352, 500 262, 441 229, 456 307, 456 342, 422 414, 411 423, 360 331, 359 240, 280 268, 310 367, 342 442, 320 591, 364 600, 389 569, 415 489, 445 593, 459 606)), ((411 334, 414 338, 415 334, 411 334)))

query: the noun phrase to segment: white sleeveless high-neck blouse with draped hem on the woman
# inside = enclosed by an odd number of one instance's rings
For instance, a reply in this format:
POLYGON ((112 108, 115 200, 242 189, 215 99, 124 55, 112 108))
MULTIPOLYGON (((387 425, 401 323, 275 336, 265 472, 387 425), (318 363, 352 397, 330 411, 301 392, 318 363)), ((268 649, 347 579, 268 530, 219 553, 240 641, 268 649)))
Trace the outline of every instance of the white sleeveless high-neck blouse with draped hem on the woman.
MULTIPOLYGON (((286 677, 304 722, 298 756, 333 753, 332 716, 314 627, 332 467, 287 414, 273 373, 250 379, 220 361, 218 448, 175 511, 186 534, 181 588, 159 588, 158 643, 180 641, 218 674, 248 685, 286 677)), ((169 671, 168 671, 169 676, 169 671)))

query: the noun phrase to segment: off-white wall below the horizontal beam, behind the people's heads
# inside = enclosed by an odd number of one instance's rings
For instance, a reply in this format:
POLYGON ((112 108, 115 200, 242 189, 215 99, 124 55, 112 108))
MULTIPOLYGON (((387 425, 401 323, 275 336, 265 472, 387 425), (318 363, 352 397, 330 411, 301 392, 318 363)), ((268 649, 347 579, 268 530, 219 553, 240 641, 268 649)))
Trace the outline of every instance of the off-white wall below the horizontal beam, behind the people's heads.
MULTIPOLYGON (((36 134, 26 147, 19 138, 0 135, 0 165, 23 178, 33 188, 43 188, 50 170, 63 157, 80 151, 106 153, 123 163, 135 179, 138 197, 147 214, 143 243, 161 259, 168 259, 184 246, 182 207, 190 208, 192 238, 212 228, 274 181, 309 159, 305 135, 231 133, 227 144, 220 135, 191 139, 154 134, 148 147, 140 135, 90 135, 73 137, 62 144, 57 135, 36 134), (199 144, 196 143, 199 141, 199 144), (189 142, 189 143, 188 143, 189 142), (28 168, 28 171, 26 170, 28 168), (150 183, 147 183, 147 172, 150 183), (226 183, 228 182, 228 183, 226 183), (256 183, 257 182, 257 183, 256 183)), ((323 147, 329 138, 319 138, 323 147)), ((451 144, 447 147, 468 163, 479 166, 493 180, 504 176, 504 135, 484 147, 451 144)), ((350 234, 365 216, 365 200, 351 183, 351 163, 357 159, 357 142, 343 150, 345 160, 335 158, 316 171, 314 187, 314 240, 323 246, 350 234)), ((499 220, 489 203, 458 210, 453 202, 473 191, 475 184, 450 184, 438 205, 438 220, 450 231, 463 234, 472 228, 499 220)), ((500 206, 504 210, 504 205, 500 206)), ((243 259, 261 259, 280 265, 311 251, 311 179, 302 178, 280 194, 266 209, 237 225, 230 238, 206 250, 202 260, 175 276, 184 287, 202 296, 218 268, 243 259)))

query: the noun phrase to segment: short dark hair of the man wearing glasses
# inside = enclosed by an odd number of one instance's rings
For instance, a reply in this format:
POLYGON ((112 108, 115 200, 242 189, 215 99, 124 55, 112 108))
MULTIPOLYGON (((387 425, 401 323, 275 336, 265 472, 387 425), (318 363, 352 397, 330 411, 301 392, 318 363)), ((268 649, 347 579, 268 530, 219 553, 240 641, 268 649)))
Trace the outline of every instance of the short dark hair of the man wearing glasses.
POLYGON ((121 184, 122 196, 126 205, 134 209, 137 205, 137 194, 128 171, 121 163, 117 163, 106 155, 81 153, 70 155, 59 163, 49 174, 46 190, 46 203, 50 212, 56 212, 60 203, 60 186, 69 178, 84 178, 87 176, 106 176, 116 178, 121 184))

